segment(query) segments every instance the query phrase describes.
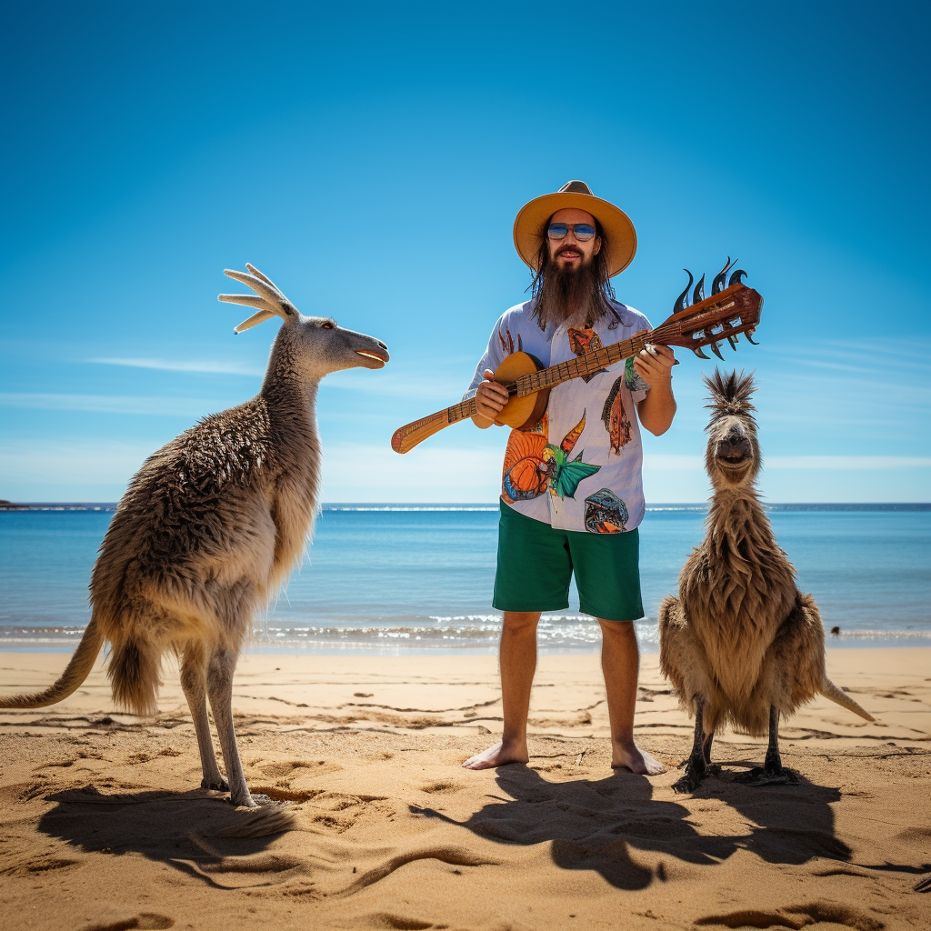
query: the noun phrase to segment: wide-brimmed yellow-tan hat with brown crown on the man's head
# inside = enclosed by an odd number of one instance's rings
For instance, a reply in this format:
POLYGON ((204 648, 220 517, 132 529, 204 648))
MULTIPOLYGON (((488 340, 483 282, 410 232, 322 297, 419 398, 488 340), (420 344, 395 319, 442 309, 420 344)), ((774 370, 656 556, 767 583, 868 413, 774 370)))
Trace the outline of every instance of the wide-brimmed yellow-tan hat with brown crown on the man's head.
POLYGON ((620 208, 591 193, 584 181, 563 184, 556 194, 545 194, 520 208, 514 221, 514 248, 533 271, 538 271, 537 256, 546 236, 546 222, 557 211, 573 207, 587 210, 599 223, 601 249, 607 250, 608 277, 623 272, 633 262, 637 252, 637 231, 630 218, 620 208))

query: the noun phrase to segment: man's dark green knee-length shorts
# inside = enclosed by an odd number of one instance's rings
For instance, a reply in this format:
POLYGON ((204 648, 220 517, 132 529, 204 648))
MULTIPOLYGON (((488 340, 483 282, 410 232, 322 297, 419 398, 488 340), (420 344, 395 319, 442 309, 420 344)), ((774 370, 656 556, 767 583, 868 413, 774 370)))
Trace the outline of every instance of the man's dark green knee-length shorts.
POLYGON ((555 530, 501 502, 493 607, 498 611, 568 608, 573 572, 585 614, 606 621, 643 616, 636 528, 627 533, 555 530))

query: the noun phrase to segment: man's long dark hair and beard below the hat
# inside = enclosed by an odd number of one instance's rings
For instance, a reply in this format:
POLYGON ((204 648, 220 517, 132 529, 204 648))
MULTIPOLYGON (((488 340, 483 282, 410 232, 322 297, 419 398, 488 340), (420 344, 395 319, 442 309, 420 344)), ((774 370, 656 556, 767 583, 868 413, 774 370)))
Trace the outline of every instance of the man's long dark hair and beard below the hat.
POLYGON ((536 271, 531 272, 528 288, 533 300, 531 316, 541 330, 550 323, 560 324, 567 319, 581 327, 591 327, 602 317, 614 317, 614 288, 608 277, 608 240, 595 221, 595 236, 601 240, 600 250, 591 262, 576 272, 560 273, 559 267, 549 258, 547 221, 536 253, 536 271))

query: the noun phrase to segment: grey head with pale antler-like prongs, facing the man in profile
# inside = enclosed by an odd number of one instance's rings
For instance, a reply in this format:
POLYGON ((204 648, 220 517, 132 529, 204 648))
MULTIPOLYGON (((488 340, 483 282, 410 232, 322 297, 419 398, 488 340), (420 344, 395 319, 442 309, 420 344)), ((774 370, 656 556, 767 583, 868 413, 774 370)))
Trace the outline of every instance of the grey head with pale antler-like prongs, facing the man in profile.
POLYGON ((249 274, 229 268, 223 275, 231 277, 255 291, 252 294, 221 294, 226 304, 244 304, 256 308, 256 313, 233 331, 241 333, 271 317, 281 317, 284 326, 278 332, 276 347, 287 359, 289 368, 299 378, 317 381, 331 371, 342 369, 384 369, 388 347, 365 333, 344 330, 331 317, 304 317, 291 304, 270 278, 254 265, 246 263, 249 274))

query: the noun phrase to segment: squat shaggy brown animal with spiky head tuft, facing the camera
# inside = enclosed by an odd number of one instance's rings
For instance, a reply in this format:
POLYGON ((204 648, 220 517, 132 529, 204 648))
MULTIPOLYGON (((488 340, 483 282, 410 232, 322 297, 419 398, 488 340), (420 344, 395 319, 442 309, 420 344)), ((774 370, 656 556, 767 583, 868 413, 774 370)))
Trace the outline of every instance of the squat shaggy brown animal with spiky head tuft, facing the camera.
POLYGON ((787 782, 779 758, 779 720, 824 695, 874 719, 825 672, 824 628, 815 600, 795 585, 795 570, 763 510, 762 466, 752 375, 715 371, 705 468, 714 494, 706 535, 679 576, 679 598, 659 609, 659 664, 680 704, 695 716, 685 775, 672 787, 695 791, 711 768, 715 733, 731 723, 752 736, 769 732, 762 767, 738 776, 750 785, 787 782))

